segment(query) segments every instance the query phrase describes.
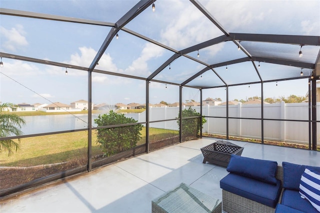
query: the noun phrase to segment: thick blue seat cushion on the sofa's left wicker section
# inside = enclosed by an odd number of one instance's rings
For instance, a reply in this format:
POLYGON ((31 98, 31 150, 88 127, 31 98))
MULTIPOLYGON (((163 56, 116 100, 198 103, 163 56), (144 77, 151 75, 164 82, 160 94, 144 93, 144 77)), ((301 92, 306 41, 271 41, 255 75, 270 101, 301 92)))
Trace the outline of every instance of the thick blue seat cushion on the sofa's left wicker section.
POLYGON ((274 185, 234 173, 229 173, 220 180, 220 188, 272 208, 278 202, 280 186, 280 180, 274 185))

